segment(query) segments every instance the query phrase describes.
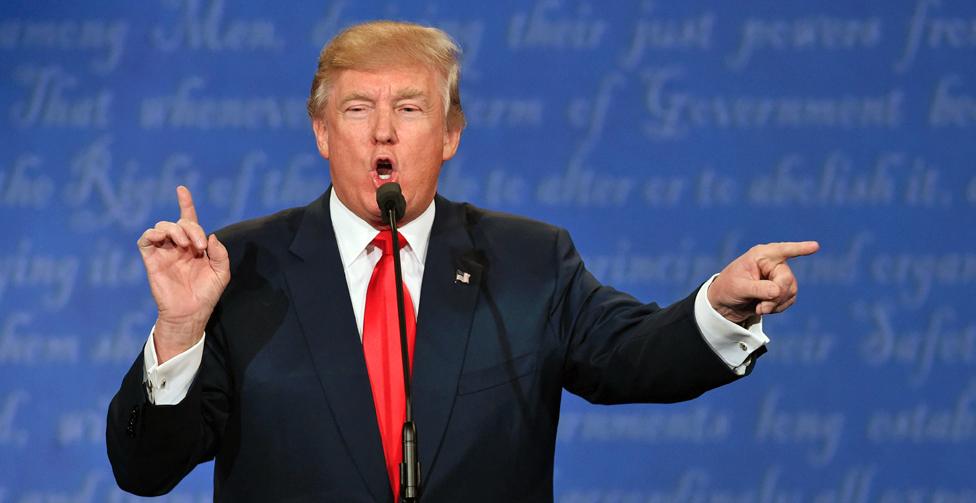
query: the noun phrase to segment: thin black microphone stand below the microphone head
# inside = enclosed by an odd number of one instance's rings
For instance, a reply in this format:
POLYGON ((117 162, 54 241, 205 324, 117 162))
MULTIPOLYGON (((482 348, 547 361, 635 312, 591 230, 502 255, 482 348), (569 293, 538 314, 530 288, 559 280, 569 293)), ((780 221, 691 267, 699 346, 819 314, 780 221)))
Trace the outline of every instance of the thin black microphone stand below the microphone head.
POLYGON ((397 314, 400 320, 400 356, 403 359, 403 392, 407 403, 403 422, 403 460, 400 462, 400 501, 420 501, 420 456, 417 452, 417 427, 413 423, 413 400, 410 395, 410 353, 407 347, 407 320, 403 311, 403 273, 400 270, 400 234, 396 226, 396 209, 387 210, 393 232, 393 274, 396 278, 397 314))

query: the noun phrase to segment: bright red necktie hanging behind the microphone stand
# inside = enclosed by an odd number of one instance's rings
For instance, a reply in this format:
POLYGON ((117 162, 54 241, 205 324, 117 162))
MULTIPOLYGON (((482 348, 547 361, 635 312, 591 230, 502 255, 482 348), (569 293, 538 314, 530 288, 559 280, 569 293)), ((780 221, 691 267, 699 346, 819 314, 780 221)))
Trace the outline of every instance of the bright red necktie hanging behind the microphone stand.
MULTIPOLYGON (((400 246, 406 245, 400 235, 400 246)), ((393 501, 399 499, 400 460, 403 457, 402 434, 406 416, 406 397, 403 391, 403 360, 400 356, 400 322, 397 318, 396 281, 393 275, 393 233, 381 231, 373 245, 383 250, 366 289, 366 310, 363 315, 363 352, 366 370, 373 389, 376 421, 383 440, 386 470, 393 488, 393 501)), ((410 370, 413 371, 413 345, 417 322, 413 300, 407 285, 403 285, 403 310, 407 321, 407 348, 410 370)))

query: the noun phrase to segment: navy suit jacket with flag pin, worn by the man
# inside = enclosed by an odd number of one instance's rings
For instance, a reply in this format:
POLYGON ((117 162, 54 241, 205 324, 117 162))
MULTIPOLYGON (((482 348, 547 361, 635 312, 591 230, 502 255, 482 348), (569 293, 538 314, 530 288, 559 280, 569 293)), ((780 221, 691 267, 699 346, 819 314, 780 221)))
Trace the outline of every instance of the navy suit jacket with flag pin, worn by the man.
MULTIPOLYGON (((163 494, 216 457, 217 501, 392 501, 328 197, 217 233, 232 279, 186 398, 148 403, 140 355, 110 405, 120 487, 163 494)), ((435 204, 412 381, 423 501, 552 501, 563 389, 675 402, 738 377, 694 294, 642 304, 590 275, 564 230, 435 204)))

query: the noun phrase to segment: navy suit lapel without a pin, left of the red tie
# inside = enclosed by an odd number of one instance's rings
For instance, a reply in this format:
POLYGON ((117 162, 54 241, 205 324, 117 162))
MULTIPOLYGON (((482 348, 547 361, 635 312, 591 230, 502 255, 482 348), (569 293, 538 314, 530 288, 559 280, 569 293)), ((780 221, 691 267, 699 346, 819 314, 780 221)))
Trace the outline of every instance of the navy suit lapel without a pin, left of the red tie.
MULTIPOLYGON (((287 268, 288 287, 315 371, 366 486, 377 501, 392 495, 373 395, 342 261, 329 216, 331 191, 306 207, 287 268)), ((426 293, 426 292, 425 292, 426 293)))

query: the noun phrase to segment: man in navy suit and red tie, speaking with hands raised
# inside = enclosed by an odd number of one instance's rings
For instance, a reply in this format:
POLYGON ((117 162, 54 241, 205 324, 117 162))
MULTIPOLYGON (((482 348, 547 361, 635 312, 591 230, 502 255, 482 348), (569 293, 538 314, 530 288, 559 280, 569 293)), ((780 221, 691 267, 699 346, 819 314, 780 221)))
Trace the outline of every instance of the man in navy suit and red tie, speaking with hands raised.
POLYGON ((464 126, 457 56, 403 23, 332 40, 309 114, 333 185, 304 208, 207 237, 177 189, 180 219, 138 243, 159 315, 109 408, 122 488, 162 494, 215 457, 219 501, 396 498, 402 390, 383 379, 402 367, 383 360, 397 334, 374 300, 395 253, 375 202, 389 182, 406 199, 424 501, 551 501, 562 389, 673 402, 751 369, 759 317, 795 299, 786 259, 817 244, 754 247, 665 309, 600 285, 565 231, 436 195, 464 126))

